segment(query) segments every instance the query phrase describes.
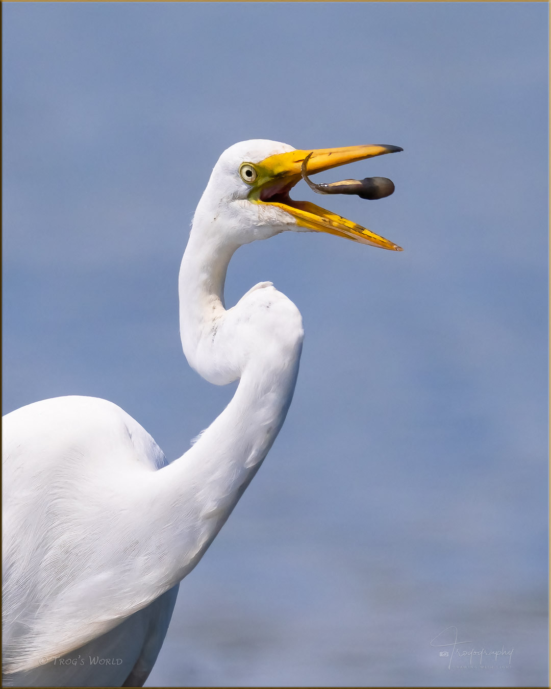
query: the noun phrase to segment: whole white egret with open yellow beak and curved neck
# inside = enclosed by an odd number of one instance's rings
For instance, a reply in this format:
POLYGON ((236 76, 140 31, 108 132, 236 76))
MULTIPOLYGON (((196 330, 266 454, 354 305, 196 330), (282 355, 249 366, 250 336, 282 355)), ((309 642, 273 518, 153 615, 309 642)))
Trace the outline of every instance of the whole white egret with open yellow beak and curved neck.
POLYGON ((224 282, 241 245, 286 230, 395 244, 289 190, 308 172, 401 150, 227 149, 196 209, 180 268, 190 366, 231 402, 168 463, 112 402, 60 397, 3 418, 3 672, 15 686, 142 686, 178 584, 220 531, 278 435, 302 347, 297 307, 271 282, 230 309, 224 282))

